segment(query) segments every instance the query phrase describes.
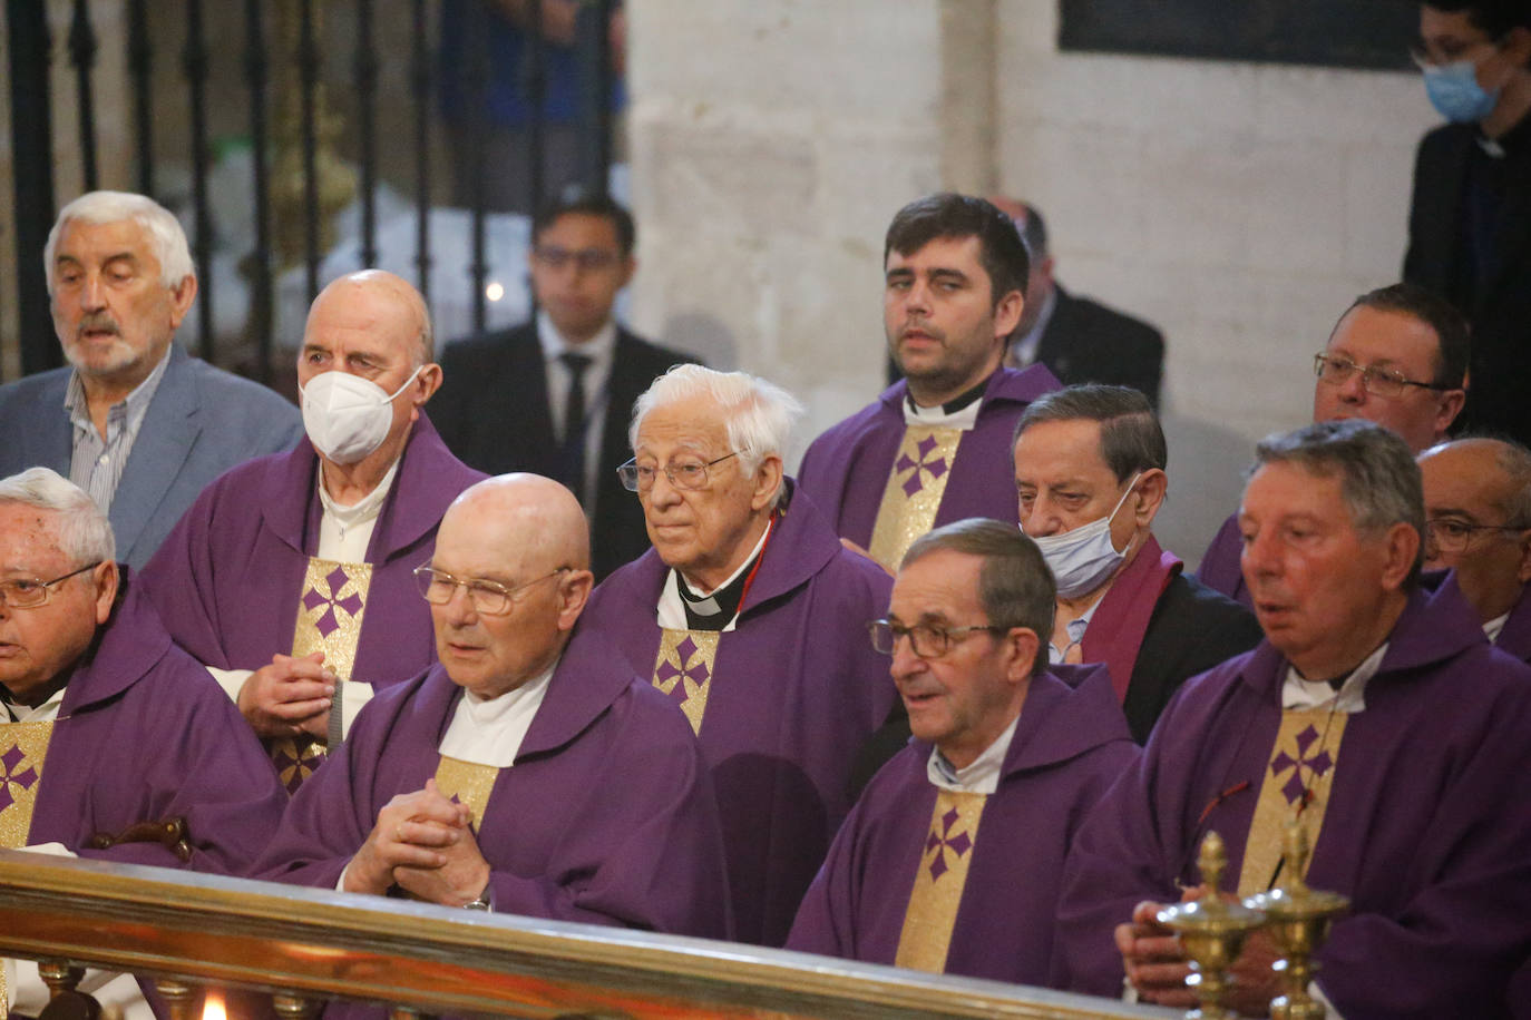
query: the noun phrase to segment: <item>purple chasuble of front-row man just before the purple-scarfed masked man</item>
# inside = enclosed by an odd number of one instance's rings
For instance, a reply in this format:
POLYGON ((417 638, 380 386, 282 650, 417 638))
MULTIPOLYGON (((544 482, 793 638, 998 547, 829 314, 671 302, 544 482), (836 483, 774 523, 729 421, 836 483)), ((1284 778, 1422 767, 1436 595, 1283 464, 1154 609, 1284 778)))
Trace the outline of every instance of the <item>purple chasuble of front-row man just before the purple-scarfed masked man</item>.
MULTIPOLYGON (((1052 667, 1032 679, 983 807, 948 974, 1047 983, 1064 855, 1089 807, 1138 755, 1104 667, 1052 667)), ((931 745, 914 740, 867 786, 802 899, 788 950, 894 962, 935 804, 929 757, 931 745)))

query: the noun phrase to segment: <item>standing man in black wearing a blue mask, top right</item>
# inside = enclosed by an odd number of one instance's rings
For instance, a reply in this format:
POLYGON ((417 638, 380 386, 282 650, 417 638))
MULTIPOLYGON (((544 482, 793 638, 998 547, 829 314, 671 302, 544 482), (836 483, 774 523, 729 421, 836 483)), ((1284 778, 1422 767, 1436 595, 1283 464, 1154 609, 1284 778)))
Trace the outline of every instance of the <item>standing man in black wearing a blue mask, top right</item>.
POLYGON ((1415 60, 1450 124, 1419 142, 1404 278, 1473 324, 1467 427, 1531 442, 1531 5, 1428 0, 1415 60))

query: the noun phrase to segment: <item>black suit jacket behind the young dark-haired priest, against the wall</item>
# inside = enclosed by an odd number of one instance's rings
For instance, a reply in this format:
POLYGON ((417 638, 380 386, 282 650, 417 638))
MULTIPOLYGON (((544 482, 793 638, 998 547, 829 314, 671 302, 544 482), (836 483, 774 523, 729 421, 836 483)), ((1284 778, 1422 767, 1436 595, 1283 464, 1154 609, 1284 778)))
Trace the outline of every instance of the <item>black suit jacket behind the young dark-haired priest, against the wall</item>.
POLYGON ((1098 301, 1076 298, 1059 286, 1053 291, 1058 304, 1036 344, 1036 361, 1052 369, 1064 385, 1130 385, 1157 408, 1164 335, 1098 301))

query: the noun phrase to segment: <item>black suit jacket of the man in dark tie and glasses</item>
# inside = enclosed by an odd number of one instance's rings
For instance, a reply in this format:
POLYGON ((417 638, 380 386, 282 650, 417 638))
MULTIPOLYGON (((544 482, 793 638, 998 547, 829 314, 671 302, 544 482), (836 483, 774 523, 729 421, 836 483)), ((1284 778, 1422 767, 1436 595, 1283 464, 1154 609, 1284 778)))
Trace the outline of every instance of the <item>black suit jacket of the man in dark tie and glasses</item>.
MULTIPOLYGON (((617 466, 632 456, 628 447, 632 402, 655 376, 683 361, 695 358, 617 329, 591 529, 597 581, 648 552, 643 508, 635 492, 622 488, 617 466)), ((449 344, 441 355, 441 372, 430 421, 459 460, 488 474, 531 471, 557 477, 559 443, 534 323, 449 344)))

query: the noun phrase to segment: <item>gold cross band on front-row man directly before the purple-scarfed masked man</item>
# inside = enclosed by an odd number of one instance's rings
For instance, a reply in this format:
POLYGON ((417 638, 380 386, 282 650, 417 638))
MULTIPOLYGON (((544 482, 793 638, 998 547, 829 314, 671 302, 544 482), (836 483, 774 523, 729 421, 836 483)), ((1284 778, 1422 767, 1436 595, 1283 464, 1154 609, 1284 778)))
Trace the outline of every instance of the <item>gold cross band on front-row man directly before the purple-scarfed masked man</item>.
POLYGON ((920 864, 914 870, 909 905, 903 913, 899 953, 893 962, 917 971, 940 974, 957 927, 957 908, 968 884, 978 843, 978 820, 989 798, 984 794, 940 791, 931 812, 920 864))

